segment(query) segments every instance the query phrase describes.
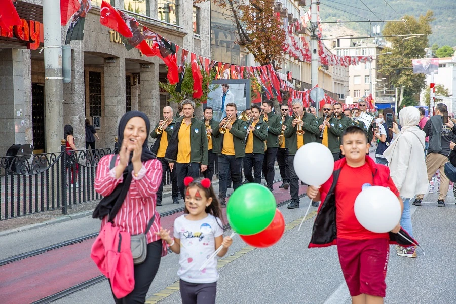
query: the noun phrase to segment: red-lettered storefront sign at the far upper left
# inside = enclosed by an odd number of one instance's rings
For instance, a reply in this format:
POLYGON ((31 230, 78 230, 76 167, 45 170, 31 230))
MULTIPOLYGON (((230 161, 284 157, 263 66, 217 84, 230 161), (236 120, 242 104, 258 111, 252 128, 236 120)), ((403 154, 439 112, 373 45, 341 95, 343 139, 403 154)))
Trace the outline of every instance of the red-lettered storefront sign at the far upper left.
POLYGON ((27 43, 27 49, 36 50, 44 42, 43 24, 34 20, 21 19, 22 24, 0 28, 0 38, 12 38, 27 43))

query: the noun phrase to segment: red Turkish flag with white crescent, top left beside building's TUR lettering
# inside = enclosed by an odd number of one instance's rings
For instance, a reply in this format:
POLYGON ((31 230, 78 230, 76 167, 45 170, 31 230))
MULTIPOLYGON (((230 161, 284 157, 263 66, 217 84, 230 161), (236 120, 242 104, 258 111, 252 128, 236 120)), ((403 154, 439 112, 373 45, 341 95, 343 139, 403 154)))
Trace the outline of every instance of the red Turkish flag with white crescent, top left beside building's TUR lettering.
MULTIPOLYGON (((2 0, 0 0, 2 1, 2 0)), ((3 0, 5 1, 5 0, 3 0)), ((101 2, 100 9, 100 23, 110 29, 113 29, 119 32, 122 36, 126 38, 133 37, 131 28, 129 27, 130 19, 133 17, 128 16, 124 12, 119 11, 118 9, 112 7, 106 1, 101 2)), ((134 19, 134 18, 133 18, 134 19)), ((136 20, 135 20, 136 21, 136 20)))

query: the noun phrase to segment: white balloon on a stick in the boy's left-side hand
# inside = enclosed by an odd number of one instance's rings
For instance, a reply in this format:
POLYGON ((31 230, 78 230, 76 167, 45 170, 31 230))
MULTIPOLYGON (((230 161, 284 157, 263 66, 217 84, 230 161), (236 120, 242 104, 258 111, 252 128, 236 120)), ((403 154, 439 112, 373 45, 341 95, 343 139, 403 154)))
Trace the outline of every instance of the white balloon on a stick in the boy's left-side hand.
POLYGON ((310 142, 297 150, 293 166, 300 180, 308 185, 320 186, 334 171, 334 157, 326 146, 310 142))

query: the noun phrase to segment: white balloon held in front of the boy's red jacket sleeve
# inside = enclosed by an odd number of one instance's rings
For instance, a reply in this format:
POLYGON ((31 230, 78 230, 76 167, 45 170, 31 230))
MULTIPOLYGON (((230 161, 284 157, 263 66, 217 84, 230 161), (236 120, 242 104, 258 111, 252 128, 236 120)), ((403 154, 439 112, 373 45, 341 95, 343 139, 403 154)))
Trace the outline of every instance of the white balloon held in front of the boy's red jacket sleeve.
POLYGON ((391 231, 401 219, 401 205, 388 188, 364 188, 355 200, 355 216, 367 230, 375 233, 391 231))

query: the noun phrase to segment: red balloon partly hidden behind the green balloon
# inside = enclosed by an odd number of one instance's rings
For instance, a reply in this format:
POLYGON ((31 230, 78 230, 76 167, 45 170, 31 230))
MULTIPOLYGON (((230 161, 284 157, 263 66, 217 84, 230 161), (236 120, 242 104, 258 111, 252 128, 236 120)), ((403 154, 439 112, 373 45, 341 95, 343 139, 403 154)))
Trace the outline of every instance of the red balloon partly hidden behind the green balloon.
POLYGON ((271 224, 263 231, 250 235, 242 236, 241 239, 253 247, 266 248, 277 243, 285 232, 285 220, 279 209, 276 209, 276 214, 271 224))

